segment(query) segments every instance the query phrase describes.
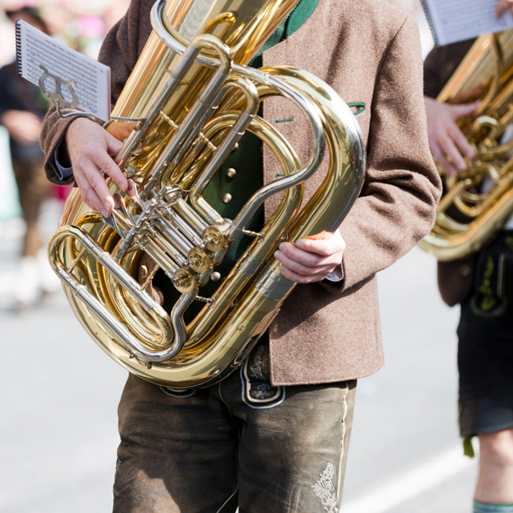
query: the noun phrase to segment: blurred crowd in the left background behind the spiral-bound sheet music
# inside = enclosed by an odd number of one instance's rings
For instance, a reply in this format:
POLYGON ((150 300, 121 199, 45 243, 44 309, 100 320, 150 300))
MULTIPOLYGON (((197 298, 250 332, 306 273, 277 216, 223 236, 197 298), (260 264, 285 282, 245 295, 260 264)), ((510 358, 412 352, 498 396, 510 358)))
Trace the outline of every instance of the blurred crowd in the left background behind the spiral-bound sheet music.
POLYGON ((102 40, 130 0, 0 0, 0 238, 2 225, 21 217, 21 247, 9 291, 14 311, 46 301, 58 290, 49 269, 40 214, 69 188, 50 185, 40 149, 41 121, 49 101, 16 73, 14 22, 23 19, 68 47, 97 58, 102 40))

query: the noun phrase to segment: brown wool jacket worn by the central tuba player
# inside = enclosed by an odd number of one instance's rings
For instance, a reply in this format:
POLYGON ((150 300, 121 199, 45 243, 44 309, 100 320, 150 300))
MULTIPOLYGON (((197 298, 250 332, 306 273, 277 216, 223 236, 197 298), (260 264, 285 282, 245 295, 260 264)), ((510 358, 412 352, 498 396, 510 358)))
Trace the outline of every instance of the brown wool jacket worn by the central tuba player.
MULTIPOLYGON (((148 38, 152 2, 132 0, 103 43, 100 58, 112 67, 113 100, 148 38)), ((321 0, 301 29, 264 53, 264 65, 306 69, 347 103, 364 102, 357 120, 368 157, 363 192, 340 227, 347 242, 345 279, 298 285, 286 300, 270 329, 273 383, 333 383, 373 374, 383 365, 376 273, 428 233, 441 193, 428 148, 418 27, 384 0, 321 0)), ((273 124, 293 119, 277 126, 304 161, 310 130, 293 106, 269 99, 264 117, 273 124)), ((43 127, 54 182, 51 156, 67 124, 51 112, 43 127)), ((266 183, 281 172, 268 151, 264 167, 266 183)), ((326 167, 305 184, 307 199, 326 167)), ((267 217, 277 202, 266 204, 267 217)))

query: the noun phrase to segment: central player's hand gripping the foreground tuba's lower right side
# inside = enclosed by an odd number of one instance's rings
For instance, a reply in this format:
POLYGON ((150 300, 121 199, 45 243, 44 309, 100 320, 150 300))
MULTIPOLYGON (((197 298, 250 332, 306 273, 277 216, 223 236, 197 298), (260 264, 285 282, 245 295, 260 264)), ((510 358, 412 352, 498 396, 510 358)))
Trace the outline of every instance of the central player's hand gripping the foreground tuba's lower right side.
POLYGON ((337 230, 330 238, 302 238, 295 245, 282 242, 276 259, 280 271, 298 284, 320 282, 342 263, 346 242, 337 230))

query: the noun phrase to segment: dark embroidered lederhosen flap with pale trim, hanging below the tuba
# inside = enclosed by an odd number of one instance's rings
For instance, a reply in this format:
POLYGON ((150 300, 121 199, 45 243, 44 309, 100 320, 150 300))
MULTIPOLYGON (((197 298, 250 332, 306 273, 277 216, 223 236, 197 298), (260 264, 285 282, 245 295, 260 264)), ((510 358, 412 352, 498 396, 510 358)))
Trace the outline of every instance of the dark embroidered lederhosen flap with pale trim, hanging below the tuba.
POLYGON ((285 389, 282 386, 273 386, 264 367, 268 366, 266 347, 258 345, 247 357, 240 369, 240 382, 242 384, 242 401, 251 408, 273 408, 285 399, 285 389), (252 403, 268 403, 266 406, 255 407, 252 403))

